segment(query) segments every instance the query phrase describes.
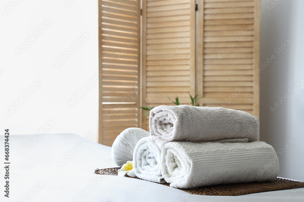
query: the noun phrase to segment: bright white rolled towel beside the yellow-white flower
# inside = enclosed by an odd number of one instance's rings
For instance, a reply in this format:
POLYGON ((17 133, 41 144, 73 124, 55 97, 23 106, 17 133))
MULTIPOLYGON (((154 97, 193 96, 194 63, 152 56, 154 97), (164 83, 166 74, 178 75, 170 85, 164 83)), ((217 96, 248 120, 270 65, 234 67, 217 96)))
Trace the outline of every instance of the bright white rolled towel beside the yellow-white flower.
POLYGON ((133 169, 137 177, 163 183, 161 174, 161 148, 167 143, 156 136, 140 139, 134 149, 133 169))

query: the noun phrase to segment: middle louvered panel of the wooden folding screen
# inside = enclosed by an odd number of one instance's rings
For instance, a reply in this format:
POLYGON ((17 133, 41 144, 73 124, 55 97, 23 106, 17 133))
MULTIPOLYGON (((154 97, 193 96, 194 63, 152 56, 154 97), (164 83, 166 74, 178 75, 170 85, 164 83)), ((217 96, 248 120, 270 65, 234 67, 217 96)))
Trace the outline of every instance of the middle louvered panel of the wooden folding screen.
POLYGON ((195 0, 143 0, 143 33, 142 106, 173 105, 175 97, 189 104, 196 88, 195 0))

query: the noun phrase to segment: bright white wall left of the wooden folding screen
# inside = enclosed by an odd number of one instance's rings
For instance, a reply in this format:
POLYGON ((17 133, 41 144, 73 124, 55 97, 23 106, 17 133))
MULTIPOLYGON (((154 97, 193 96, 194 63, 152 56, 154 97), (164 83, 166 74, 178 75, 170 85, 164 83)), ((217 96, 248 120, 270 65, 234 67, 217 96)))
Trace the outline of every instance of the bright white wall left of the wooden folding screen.
POLYGON ((0 129, 9 128, 11 134, 36 134, 40 129, 83 137, 90 133, 97 141, 97 0, 19 1, 0 3, 0 129), (89 36, 82 42, 83 33, 89 36), (16 51, 29 39, 34 40, 16 51), (56 67, 55 61, 70 48, 73 52, 56 67), (85 93, 70 106, 68 101, 83 88, 85 93), (15 107, 11 114, 6 112, 10 106, 15 107))

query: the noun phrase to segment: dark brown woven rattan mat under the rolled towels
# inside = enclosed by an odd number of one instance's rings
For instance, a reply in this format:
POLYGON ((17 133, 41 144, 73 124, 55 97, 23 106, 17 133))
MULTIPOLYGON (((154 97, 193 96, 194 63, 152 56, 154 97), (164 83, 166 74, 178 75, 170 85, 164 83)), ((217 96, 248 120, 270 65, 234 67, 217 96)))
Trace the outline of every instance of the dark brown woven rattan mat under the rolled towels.
MULTIPOLYGON (((119 167, 96 169, 96 174, 102 175, 116 175, 119 167)), ((126 177, 130 177, 126 175, 126 177)), ((140 179, 138 177, 131 177, 140 179)), ((140 179, 141 180, 141 179, 140 179)), ((169 186, 169 183, 157 183, 169 186)), ((250 182, 250 183, 238 183, 238 184, 220 184, 207 187, 196 187, 192 189, 180 189, 189 194, 195 195, 209 195, 209 196, 238 196, 243 194, 253 194, 266 191, 275 191, 281 189, 291 189, 304 187, 304 182, 298 182, 293 180, 286 180, 282 178, 276 178, 270 182, 250 182)))

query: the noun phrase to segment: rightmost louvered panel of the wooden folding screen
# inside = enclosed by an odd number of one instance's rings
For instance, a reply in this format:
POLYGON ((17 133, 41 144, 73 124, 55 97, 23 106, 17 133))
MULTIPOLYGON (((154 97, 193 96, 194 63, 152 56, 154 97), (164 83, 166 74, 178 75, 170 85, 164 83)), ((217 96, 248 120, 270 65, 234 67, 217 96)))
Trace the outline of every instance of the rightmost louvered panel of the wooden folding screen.
MULTIPOLYGON (((204 0, 203 106, 247 111, 259 118, 259 1, 204 0)), ((199 57, 199 56, 198 56, 199 57)))

